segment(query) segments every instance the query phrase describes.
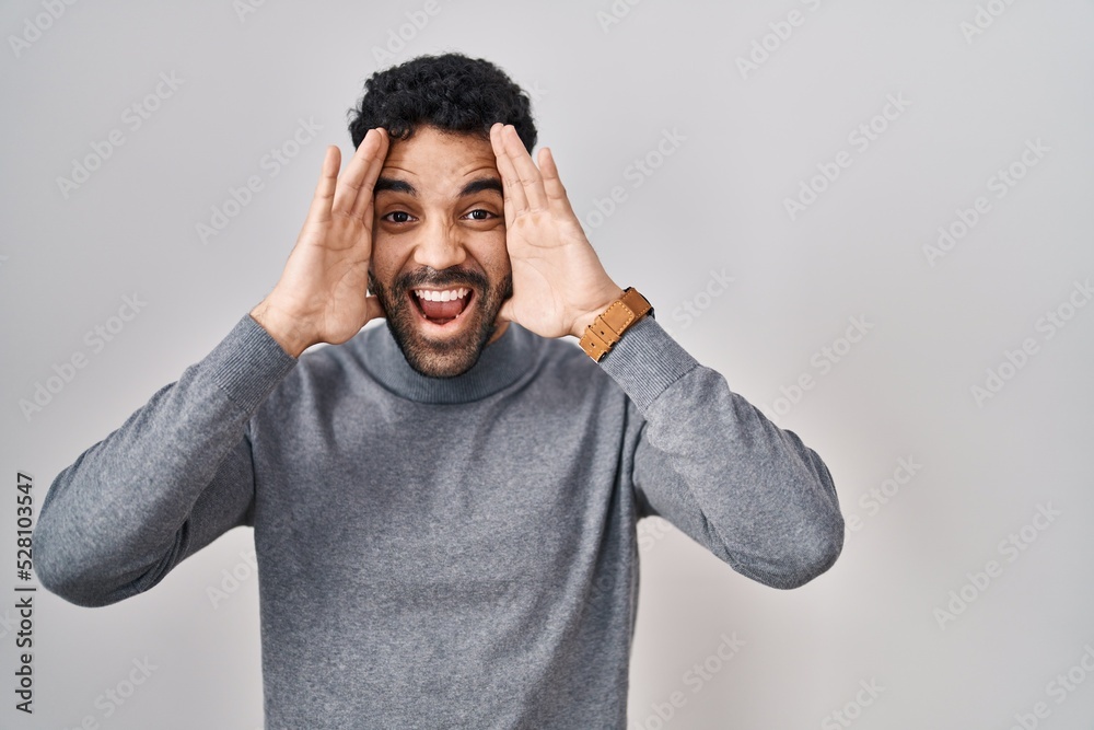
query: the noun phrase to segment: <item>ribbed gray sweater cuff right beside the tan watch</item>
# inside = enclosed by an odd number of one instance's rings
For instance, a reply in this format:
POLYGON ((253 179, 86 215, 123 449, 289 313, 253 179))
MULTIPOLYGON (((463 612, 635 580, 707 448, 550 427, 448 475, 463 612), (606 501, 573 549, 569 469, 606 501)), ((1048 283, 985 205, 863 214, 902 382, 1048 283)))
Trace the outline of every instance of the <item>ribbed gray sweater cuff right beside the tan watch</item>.
POLYGON ((670 385, 699 366, 652 316, 627 329, 600 364, 642 414, 670 385))

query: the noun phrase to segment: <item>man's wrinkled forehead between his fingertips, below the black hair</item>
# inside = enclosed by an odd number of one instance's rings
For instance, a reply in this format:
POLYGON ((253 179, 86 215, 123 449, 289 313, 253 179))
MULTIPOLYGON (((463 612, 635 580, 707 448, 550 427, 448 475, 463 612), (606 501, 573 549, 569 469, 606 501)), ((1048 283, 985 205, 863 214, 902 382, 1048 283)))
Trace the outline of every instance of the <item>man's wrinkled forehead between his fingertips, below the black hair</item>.
POLYGON ((409 139, 392 140, 383 177, 407 181, 420 192, 443 193, 469 177, 498 175, 489 139, 419 127, 409 139))

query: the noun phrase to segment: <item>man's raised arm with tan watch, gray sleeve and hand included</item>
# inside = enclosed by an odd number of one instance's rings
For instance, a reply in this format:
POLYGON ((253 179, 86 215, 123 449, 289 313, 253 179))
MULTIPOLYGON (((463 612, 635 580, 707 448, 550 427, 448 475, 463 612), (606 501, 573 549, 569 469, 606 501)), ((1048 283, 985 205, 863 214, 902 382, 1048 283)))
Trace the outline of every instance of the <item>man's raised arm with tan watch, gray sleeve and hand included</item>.
MULTIPOLYGON (((490 134, 513 266, 500 316, 544 337, 580 338, 622 290, 585 237, 550 150, 539 150, 537 166, 512 127, 490 134)), ((645 419, 633 473, 644 513, 768 586, 794 588, 831 566, 843 519, 828 470, 798 436, 731 392, 651 317, 601 364, 645 419)))

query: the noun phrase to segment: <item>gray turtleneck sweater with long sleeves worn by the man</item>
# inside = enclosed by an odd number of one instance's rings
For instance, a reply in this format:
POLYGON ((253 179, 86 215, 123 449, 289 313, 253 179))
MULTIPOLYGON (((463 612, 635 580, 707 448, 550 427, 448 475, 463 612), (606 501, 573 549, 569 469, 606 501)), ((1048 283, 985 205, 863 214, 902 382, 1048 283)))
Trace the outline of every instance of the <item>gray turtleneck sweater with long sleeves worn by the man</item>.
POLYGON ((651 317, 600 363, 516 324, 464 375, 386 326, 287 355, 249 315, 54 482, 43 584, 101 606, 254 528, 266 727, 624 728, 636 524, 776 588, 831 477, 651 317))

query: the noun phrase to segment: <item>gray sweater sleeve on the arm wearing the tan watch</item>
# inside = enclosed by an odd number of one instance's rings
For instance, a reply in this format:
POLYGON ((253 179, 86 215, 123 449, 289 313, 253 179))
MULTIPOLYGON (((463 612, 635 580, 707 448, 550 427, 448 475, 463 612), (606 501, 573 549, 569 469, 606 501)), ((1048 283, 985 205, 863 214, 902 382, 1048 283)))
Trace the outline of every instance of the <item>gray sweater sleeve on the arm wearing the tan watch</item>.
POLYGON ((792 431, 700 366, 652 317, 601 366, 644 419, 633 460, 640 517, 663 517, 737 572, 796 588, 843 545, 831 475, 792 431))

